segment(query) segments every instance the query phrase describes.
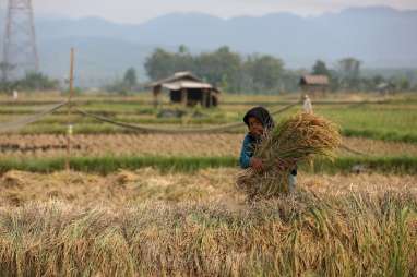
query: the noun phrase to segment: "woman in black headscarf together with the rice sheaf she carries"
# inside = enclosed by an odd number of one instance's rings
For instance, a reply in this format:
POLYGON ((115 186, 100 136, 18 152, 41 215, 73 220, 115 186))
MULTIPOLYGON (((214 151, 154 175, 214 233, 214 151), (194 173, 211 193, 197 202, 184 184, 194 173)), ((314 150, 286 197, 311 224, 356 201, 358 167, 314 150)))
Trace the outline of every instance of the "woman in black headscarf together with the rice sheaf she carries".
POLYGON ((332 159, 342 142, 338 127, 307 112, 299 112, 274 127, 270 113, 253 108, 243 118, 249 128, 240 165, 248 168, 237 185, 249 201, 278 197, 294 192, 295 165, 315 157, 332 159))

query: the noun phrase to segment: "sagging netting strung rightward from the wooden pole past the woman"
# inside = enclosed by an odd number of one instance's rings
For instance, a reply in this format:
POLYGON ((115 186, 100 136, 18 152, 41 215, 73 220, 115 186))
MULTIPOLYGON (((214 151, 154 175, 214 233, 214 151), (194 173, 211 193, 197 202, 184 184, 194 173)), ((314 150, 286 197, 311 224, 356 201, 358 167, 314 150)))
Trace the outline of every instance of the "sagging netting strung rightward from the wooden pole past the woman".
MULTIPOLYGON (((299 105, 299 103, 290 104, 284 108, 272 111, 271 115, 277 115, 277 113, 284 112, 284 111, 286 111, 286 110, 288 110, 288 109, 290 109, 297 105, 299 105)), ((222 132, 222 131, 227 131, 230 129, 239 128, 239 127, 242 127, 245 124, 243 122, 234 122, 234 123, 228 123, 228 124, 223 124, 223 125, 217 125, 217 127, 199 128, 199 129, 196 129, 196 128, 195 129, 156 128, 156 127, 148 127, 148 125, 143 125, 143 124, 130 124, 130 123, 126 123, 126 122, 115 121, 112 119, 109 119, 109 118, 106 118, 103 116, 93 115, 93 113, 90 113, 90 112, 86 112, 86 111, 83 111, 80 109, 75 109, 75 111, 85 116, 85 117, 94 118, 98 121, 103 121, 106 123, 110 123, 114 125, 141 131, 141 132, 147 132, 147 133, 151 133, 151 132, 153 132, 153 133, 169 133, 169 134, 213 133, 213 132, 222 132)))

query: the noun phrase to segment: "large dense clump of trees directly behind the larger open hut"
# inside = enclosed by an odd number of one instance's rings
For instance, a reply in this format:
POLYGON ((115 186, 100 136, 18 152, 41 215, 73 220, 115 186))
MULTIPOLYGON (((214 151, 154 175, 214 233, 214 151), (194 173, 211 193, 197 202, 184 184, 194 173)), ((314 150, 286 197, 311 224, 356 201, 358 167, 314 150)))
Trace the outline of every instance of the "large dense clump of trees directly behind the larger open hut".
POLYGON ((272 93, 283 84, 296 84, 288 75, 284 62, 270 55, 251 55, 246 58, 224 46, 213 52, 193 56, 184 46, 178 52, 157 48, 146 59, 145 70, 151 80, 159 80, 179 71, 191 71, 205 82, 227 92, 272 93))

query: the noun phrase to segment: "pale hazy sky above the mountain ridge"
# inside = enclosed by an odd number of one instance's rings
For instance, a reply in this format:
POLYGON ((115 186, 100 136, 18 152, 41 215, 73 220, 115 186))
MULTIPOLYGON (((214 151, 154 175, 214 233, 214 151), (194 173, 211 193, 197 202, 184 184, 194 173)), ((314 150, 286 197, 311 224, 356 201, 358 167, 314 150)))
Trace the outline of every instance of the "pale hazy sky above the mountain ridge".
MULTIPOLYGON (((1 0, 4 8, 7 0, 1 0)), ((317 15, 347 7, 389 5, 417 10, 417 0, 32 0, 36 13, 71 17, 100 16, 141 23, 171 12, 203 12, 222 17, 293 12, 317 15)))

